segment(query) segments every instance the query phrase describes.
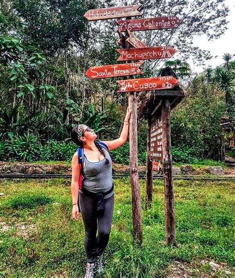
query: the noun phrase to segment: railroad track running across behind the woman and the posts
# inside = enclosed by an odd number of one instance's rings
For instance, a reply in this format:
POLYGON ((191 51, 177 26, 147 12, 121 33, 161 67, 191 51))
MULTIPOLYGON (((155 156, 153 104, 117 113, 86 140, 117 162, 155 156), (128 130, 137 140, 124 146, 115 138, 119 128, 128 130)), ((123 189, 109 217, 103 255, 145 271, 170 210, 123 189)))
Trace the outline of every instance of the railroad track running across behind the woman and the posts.
MULTIPOLYGON (((64 178, 71 179, 71 175, 63 174, 0 174, 0 181, 8 179, 55 179, 55 178, 64 178)), ((115 174, 113 179, 129 178, 129 175, 115 174)), ((145 179, 145 175, 139 175, 140 179, 145 179)), ((163 180, 163 176, 155 175, 153 179, 163 180)), ((205 180, 205 181, 235 181, 234 176, 173 176, 174 180, 205 180)))

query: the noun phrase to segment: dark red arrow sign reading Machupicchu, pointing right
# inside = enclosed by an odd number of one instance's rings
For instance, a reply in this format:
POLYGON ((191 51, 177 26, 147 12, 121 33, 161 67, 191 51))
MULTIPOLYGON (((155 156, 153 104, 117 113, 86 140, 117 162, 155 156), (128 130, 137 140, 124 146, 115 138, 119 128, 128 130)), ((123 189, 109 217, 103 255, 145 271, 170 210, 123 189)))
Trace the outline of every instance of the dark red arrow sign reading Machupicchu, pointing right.
POLYGON ((158 46, 117 49, 117 52, 120 54, 117 61, 130 61, 170 58, 176 53, 176 50, 171 46, 158 46))

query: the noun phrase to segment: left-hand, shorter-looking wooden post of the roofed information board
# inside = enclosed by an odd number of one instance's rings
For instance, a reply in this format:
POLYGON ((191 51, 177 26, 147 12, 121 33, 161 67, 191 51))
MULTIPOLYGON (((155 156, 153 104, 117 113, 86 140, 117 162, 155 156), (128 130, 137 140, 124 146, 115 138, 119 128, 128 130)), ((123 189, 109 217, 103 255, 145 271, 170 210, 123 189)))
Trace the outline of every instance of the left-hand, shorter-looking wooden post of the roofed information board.
POLYGON ((152 206, 152 200, 153 200, 153 162, 150 156, 150 144, 151 144, 151 117, 148 118, 148 132, 147 132, 145 210, 147 210, 152 206))

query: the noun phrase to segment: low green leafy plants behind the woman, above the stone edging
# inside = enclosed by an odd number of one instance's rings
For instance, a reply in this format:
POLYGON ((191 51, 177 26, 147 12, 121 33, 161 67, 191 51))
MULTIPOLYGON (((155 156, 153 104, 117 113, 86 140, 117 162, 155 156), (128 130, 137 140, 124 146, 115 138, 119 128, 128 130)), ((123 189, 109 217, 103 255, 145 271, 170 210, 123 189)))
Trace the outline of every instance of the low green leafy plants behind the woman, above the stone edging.
MULTIPOLYGON (((138 137, 139 165, 144 165, 146 162, 146 128, 144 125, 140 127, 140 136, 138 137)), ((10 139, 0 142, 0 160, 70 162, 76 149, 77 145, 71 141, 50 140, 45 142, 33 134, 12 136, 10 139)), ((129 164, 129 143, 126 142, 110 154, 115 163, 129 164)))

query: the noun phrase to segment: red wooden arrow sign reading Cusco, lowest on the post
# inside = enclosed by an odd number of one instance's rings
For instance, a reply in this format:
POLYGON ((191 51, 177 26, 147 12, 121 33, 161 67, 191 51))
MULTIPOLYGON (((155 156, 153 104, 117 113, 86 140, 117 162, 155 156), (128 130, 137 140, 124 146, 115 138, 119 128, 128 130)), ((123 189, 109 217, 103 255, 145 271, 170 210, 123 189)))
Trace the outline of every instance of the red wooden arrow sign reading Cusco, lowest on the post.
POLYGON ((164 89, 169 90, 174 88, 178 81, 173 76, 162 76, 152 78, 118 80, 117 83, 121 86, 117 93, 122 93, 164 89))

